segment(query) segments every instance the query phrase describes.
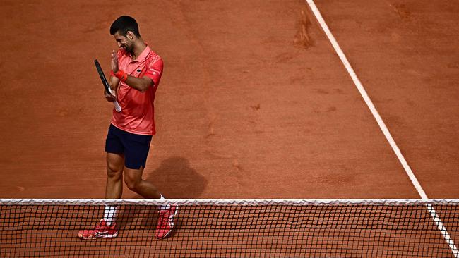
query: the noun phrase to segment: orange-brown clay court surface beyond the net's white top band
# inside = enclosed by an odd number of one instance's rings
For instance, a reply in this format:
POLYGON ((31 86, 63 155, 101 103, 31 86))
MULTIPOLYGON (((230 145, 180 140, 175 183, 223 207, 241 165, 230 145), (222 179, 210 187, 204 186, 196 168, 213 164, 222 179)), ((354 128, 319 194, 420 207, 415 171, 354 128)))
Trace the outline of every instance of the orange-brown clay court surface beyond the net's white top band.
MULTIPOLYGON (((419 198, 304 1, 138 3, 2 1, 0 198, 104 197, 93 59, 123 14, 165 61, 145 178, 166 197, 419 198)), ((427 196, 458 198, 458 2, 316 5, 427 196)))

